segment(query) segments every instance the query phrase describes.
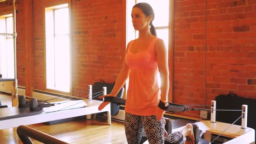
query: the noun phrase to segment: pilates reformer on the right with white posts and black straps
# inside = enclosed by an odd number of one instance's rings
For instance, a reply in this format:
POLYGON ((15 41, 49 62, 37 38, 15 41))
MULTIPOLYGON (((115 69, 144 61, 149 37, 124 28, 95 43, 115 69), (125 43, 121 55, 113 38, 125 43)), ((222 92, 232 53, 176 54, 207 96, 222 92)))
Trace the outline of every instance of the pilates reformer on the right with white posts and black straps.
MULTIPOLYGON (((103 101, 108 101, 111 103, 116 103, 120 105, 125 105, 125 99, 117 98, 117 97, 104 97, 103 101)), ((216 121, 216 101, 211 101, 211 109, 197 109, 191 106, 186 105, 178 105, 173 103, 168 103, 165 106, 161 101, 158 105, 162 110, 168 112, 186 112, 186 111, 194 111, 194 110, 206 110, 211 112, 211 120, 210 121, 197 121, 195 124, 199 127, 195 135, 195 143, 213 143, 219 136, 229 137, 231 140, 224 142, 225 144, 236 144, 236 143, 255 143, 255 130, 247 127, 247 105, 242 105, 241 116, 238 118, 242 118, 241 125, 235 125, 223 122, 216 121), (200 132, 199 132, 200 131, 200 132), (214 140, 212 140, 212 135, 218 135, 214 140), (201 138, 203 136, 203 139, 201 138), (212 141, 211 141, 212 140, 212 141)), ((232 111, 232 110, 219 110, 219 111, 232 111)), ((206 113, 207 114, 207 113, 206 113)), ((169 123, 170 121, 167 121, 169 123)), ((171 125, 171 124, 168 124, 171 125)), ((175 132, 182 130, 184 127, 176 128, 170 130, 170 126, 165 129, 170 134, 170 131, 175 132)), ((182 141, 184 143, 184 141, 182 141)))

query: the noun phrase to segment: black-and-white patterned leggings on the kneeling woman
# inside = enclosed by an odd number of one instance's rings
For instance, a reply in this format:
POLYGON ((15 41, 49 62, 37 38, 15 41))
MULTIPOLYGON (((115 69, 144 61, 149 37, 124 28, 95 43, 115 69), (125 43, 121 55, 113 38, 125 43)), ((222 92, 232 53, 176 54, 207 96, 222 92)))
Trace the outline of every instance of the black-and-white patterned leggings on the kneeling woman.
POLYGON ((143 136, 149 143, 179 143, 183 139, 180 132, 172 133, 164 137, 164 119, 158 121, 155 115, 137 116, 125 113, 125 135, 129 144, 141 143, 143 136))

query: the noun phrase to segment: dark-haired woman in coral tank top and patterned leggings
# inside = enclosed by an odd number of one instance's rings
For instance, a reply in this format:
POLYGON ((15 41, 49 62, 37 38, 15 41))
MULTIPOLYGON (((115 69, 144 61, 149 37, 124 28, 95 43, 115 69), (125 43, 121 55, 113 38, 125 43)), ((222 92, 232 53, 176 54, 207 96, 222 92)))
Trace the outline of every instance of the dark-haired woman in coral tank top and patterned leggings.
MULTIPOLYGON (((137 39, 127 45, 126 56, 112 92, 117 95, 129 77, 125 104, 125 134, 128 143, 139 143, 143 131, 149 143, 164 143, 165 111, 158 107, 160 100, 168 105, 168 59, 164 41, 156 37, 154 11, 148 3, 137 3, 132 8, 132 24, 139 32, 137 39), (161 88, 158 84, 158 72, 161 88), (161 93, 160 93, 161 91, 161 93)), ((103 102, 102 110, 109 102, 103 102)))

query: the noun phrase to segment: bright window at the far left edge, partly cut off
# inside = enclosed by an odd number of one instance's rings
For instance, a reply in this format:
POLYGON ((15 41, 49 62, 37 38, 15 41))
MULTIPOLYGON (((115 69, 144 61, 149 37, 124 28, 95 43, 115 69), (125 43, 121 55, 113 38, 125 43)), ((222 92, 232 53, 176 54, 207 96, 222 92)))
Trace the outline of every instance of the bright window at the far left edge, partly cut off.
POLYGON ((12 14, 0 16, 0 74, 14 79, 14 46, 12 14))

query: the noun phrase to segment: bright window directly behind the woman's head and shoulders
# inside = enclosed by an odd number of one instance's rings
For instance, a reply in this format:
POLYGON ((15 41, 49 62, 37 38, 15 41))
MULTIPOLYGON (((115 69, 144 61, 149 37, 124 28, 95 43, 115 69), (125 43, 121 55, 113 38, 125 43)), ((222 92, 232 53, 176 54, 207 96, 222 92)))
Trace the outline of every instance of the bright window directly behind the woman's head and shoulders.
MULTIPOLYGON (((168 40, 169 40, 169 14, 170 14, 170 8, 169 8, 169 0, 136 0, 136 1, 127 1, 127 43, 132 40, 138 38, 138 32, 135 32, 133 26, 132 26, 132 20, 131 20, 131 10, 133 5, 136 3, 146 2, 151 5, 151 7, 154 10, 155 13, 155 19, 153 21, 153 25, 156 29, 156 34, 158 38, 161 38, 164 40, 166 49, 168 50, 168 40)), ((160 76, 159 76, 160 77, 160 76)), ((159 83, 161 79, 159 78, 159 83)))

